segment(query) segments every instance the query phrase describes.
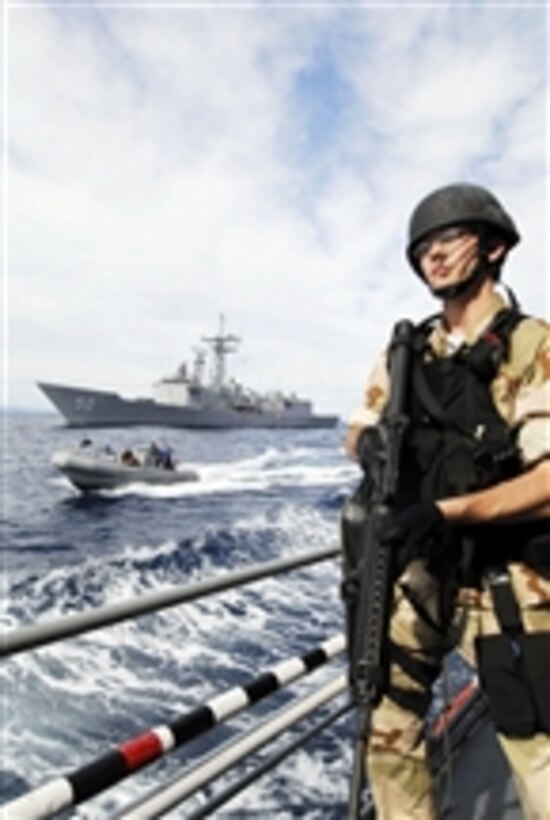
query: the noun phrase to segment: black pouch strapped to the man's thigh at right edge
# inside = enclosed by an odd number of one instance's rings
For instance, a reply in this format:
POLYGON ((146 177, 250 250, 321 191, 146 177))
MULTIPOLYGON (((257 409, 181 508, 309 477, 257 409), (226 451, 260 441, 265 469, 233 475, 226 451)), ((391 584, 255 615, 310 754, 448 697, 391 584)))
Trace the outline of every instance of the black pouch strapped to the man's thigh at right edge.
POLYGON ((497 731, 508 737, 550 733, 550 632, 476 638, 481 685, 497 731))

